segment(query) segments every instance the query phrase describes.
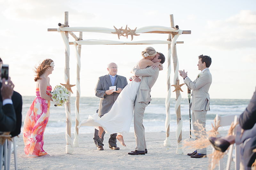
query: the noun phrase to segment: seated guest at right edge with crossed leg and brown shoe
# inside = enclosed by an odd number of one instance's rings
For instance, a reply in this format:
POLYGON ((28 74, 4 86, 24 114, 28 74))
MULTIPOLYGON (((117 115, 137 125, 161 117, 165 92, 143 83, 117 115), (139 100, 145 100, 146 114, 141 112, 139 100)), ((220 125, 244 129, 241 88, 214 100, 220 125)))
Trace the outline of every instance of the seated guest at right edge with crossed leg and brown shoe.
MULTIPOLYGON (((240 169, 251 169, 252 163, 256 159, 256 91, 252 99, 240 115, 239 125, 242 128, 242 135, 230 135, 220 138, 210 137, 213 147, 221 152, 225 152, 229 145, 236 143, 240 145, 240 169), (241 167, 242 166, 242 167, 241 167)), ((237 125, 237 126, 239 126, 237 125)))

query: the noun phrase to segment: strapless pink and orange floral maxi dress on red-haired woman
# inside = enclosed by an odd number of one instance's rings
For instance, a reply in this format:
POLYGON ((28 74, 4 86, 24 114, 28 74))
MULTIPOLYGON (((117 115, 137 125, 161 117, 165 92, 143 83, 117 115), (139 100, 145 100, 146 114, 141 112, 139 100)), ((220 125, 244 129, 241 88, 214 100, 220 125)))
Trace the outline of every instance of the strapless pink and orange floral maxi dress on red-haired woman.
MULTIPOLYGON (((47 86, 46 94, 50 96, 51 86, 47 86)), ((40 97, 39 88, 36 88, 36 98, 31 104, 23 126, 24 151, 28 155, 42 156, 47 153, 43 150, 44 130, 50 116, 50 100, 40 97)))

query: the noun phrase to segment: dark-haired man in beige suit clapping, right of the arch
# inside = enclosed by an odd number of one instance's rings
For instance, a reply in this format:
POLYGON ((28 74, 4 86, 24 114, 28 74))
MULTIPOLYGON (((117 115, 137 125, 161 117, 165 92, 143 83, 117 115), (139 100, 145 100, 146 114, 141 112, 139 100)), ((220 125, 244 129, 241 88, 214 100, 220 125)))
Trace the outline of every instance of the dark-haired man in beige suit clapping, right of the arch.
MULTIPOLYGON (((210 95, 208 91, 212 84, 212 74, 209 70, 212 58, 201 55, 198 56, 198 59, 199 61, 197 66, 198 70, 201 70, 201 73, 197 75, 195 81, 191 81, 188 78, 188 72, 185 72, 185 70, 179 71, 180 76, 183 77, 184 83, 186 83, 188 89, 192 89, 192 102, 189 104, 189 108, 192 110, 192 122, 196 140, 199 138, 206 138, 206 113, 207 111, 210 111, 210 95), (196 124, 197 121, 203 126, 203 129, 196 124)), ((188 156, 191 158, 204 158, 206 157, 206 148, 197 149, 193 153, 188 153, 188 156)))

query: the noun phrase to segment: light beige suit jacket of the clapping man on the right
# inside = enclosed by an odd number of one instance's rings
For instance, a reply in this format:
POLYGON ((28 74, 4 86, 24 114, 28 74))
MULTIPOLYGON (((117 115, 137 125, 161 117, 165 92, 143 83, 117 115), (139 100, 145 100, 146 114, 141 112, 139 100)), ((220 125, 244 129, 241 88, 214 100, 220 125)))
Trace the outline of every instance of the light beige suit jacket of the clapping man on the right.
POLYGON ((187 77, 184 83, 192 90, 192 102, 189 104, 189 108, 196 111, 210 111, 210 95, 208 91, 212 84, 212 74, 209 68, 205 69, 195 81, 191 81, 187 77))

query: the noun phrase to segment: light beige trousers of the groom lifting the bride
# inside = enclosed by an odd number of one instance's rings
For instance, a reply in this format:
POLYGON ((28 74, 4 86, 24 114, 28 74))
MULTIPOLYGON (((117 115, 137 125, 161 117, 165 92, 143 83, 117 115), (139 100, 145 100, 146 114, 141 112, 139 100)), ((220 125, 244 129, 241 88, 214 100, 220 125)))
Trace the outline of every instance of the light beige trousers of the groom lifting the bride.
MULTIPOLYGON (((149 103, 148 103, 149 104, 149 103)), ((143 117, 145 108, 148 106, 144 102, 137 102, 137 98, 135 100, 134 105, 134 134, 136 140, 136 148, 137 151, 145 151, 147 149, 146 140, 145 140, 145 128, 143 126, 143 117)))

